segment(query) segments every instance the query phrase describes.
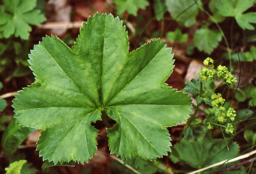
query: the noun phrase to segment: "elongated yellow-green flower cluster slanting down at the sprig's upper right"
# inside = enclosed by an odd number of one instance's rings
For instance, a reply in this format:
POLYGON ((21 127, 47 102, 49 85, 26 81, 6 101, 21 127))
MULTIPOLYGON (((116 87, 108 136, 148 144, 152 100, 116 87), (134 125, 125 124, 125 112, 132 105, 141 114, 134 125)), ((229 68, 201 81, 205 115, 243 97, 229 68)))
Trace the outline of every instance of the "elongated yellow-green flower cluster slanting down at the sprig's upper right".
POLYGON ((233 87, 234 84, 237 82, 237 79, 234 77, 231 72, 228 71, 226 66, 219 65, 217 67, 217 76, 219 79, 222 79, 224 83, 233 87))

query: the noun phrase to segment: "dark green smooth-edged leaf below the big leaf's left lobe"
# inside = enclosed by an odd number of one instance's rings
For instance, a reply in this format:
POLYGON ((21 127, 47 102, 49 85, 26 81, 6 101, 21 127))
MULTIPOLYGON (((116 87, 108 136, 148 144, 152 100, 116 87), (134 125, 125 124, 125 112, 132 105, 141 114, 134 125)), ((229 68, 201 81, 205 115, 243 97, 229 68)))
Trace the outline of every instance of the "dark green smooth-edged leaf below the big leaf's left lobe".
POLYGON ((16 122, 16 118, 13 117, 2 137, 2 147, 5 156, 11 156, 26 137, 34 131, 34 128, 19 125, 16 122))

